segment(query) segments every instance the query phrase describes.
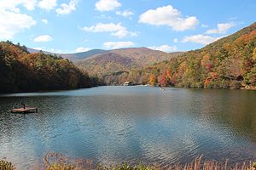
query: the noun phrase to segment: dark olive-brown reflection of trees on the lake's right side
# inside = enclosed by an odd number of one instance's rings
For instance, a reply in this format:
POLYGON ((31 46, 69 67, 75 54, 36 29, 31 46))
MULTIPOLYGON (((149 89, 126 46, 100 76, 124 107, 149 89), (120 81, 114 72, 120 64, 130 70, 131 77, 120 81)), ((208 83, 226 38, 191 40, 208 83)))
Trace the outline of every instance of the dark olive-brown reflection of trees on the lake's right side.
POLYGON ((190 107, 197 107, 201 120, 229 127, 232 132, 256 142, 255 92, 195 89, 190 95, 190 107))

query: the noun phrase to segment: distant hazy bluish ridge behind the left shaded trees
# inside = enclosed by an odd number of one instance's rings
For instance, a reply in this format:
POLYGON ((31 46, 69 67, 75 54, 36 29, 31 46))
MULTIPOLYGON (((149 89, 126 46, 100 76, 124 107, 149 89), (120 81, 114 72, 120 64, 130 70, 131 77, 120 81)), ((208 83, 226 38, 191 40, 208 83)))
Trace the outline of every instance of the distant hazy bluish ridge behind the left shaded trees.
MULTIPOLYGON (((29 53, 39 53, 40 50, 38 49, 33 49, 33 48, 27 48, 29 53)), ((56 55, 58 57, 62 57, 63 59, 69 59, 73 62, 77 62, 81 59, 86 59, 88 57, 90 57, 91 55, 95 55, 95 54, 103 54, 108 52, 108 50, 103 50, 103 49, 91 49, 89 51, 86 52, 81 52, 81 53, 74 53, 74 54, 55 54, 55 53, 50 53, 50 52, 46 52, 46 51, 42 51, 44 54, 52 54, 52 55, 56 55)))

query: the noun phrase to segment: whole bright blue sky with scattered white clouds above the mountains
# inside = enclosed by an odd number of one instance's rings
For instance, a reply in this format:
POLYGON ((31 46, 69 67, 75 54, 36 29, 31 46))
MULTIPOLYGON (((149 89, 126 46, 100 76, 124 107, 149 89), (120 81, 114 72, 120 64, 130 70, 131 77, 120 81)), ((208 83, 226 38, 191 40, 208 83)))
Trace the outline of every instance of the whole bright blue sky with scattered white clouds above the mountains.
POLYGON ((187 51, 255 19, 255 0, 0 0, 0 40, 55 53, 187 51))

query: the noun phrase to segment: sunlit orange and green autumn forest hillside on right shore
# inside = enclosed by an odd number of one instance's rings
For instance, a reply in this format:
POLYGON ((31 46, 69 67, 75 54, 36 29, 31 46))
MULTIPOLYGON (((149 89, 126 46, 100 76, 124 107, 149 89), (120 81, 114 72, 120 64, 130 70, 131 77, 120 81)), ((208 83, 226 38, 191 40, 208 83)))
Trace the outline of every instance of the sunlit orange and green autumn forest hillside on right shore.
POLYGON ((256 23, 235 34, 140 70, 102 77, 107 84, 134 82, 162 87, 255 88, 256 23))

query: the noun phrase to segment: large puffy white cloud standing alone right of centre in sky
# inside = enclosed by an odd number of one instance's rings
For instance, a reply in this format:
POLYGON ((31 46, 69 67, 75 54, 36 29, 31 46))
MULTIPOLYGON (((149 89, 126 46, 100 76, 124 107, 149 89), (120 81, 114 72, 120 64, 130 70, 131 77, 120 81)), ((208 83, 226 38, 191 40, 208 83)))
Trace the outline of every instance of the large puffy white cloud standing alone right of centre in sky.
POLYGON ((140 15, 139 23, 153 26, 171 26, 175 31, 185 31, 195 28, 199 23, 195 16, 183 18, 181 12, 172 5, 150 9, 140 15))

